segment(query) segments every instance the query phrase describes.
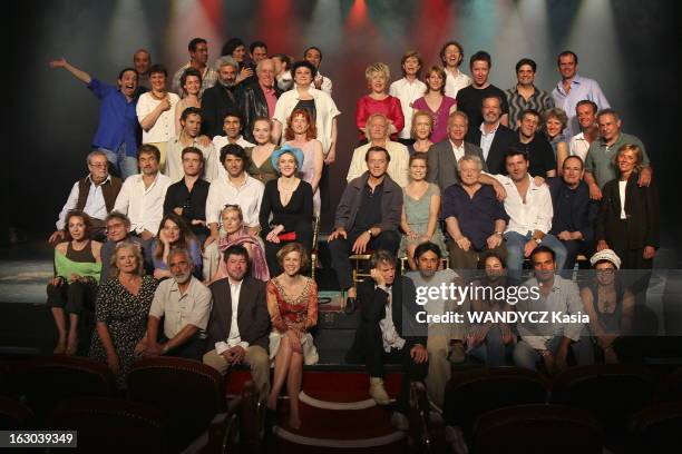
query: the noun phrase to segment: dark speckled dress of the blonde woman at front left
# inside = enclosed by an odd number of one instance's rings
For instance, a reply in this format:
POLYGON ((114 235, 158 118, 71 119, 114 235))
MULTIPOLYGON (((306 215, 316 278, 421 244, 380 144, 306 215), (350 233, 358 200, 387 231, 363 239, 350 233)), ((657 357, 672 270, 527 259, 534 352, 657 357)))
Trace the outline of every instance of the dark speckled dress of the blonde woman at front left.
MULTIPOLYGON (((156 286, 157 282, 152 276, 143 276, 137 296, 130 294, 117 278, 107 280, 99 289, 95 316, 97 322, 106 323, 109 329, 120 364, 116 378, 121 388, 125 387, 126 375, 135 362, 135 345, 147 329, 147 316, 156 286)), ((92 334, 89 356, 95 361, 107 363, 107 352, 97 330, 92 334)))

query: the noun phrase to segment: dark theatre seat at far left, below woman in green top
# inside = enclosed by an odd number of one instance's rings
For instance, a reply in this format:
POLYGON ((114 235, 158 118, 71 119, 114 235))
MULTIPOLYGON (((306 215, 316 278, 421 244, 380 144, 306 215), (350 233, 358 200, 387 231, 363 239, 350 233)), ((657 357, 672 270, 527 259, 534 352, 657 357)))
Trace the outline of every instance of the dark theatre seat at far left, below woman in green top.
POLYGON ((43 421, 60 401, 111 397, 116 378, 104 364, 75 356, 45 356, 12 365, 10 388, 43 421))

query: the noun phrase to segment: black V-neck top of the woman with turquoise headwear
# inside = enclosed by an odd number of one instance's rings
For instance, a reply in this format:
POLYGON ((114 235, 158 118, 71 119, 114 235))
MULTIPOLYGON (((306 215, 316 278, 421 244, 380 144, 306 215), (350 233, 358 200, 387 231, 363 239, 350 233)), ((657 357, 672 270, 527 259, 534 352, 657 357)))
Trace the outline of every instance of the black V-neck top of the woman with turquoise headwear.
POLYGON ((275 178, 265 184, 263 191, 263 201, 261 203, 261 234, 267 236, 271 226, 283 225, 284 233, 294 231, 300 219, 309 219, 312 221, 312 186, 308 181, 301 180, 299 186, 291 195, 291 199, 286 206, 282 206, 280 200, 280 191, 275 178), (272 219, 270 215, 272 214, 272 219))

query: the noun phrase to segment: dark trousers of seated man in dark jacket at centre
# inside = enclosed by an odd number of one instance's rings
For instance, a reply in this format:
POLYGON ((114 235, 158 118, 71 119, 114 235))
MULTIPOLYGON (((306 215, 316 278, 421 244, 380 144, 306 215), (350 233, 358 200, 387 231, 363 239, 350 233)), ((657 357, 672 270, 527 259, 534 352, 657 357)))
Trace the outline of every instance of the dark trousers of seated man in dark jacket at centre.
MULTIPOLYGON (((348 239, 337 238, 329 243, 329 254, 332 259, 332 268, 337 272, 339 285, 342 290, 347 290, 353 286, 353 269, 350 263, 353 243, 363 231, 350 231, 348 239)), ((400 235, 396 230, 384 230, 373 237, 369 244, 369 250, 386 249, 396 255, 400 247, 400 235)))

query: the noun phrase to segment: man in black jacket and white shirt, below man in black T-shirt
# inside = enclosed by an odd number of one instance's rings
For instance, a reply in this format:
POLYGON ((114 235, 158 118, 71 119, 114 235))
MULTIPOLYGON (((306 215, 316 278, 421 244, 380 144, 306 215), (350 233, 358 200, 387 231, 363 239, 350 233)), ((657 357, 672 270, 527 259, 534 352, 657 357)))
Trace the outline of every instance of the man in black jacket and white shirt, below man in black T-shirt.
POLYGON ((505 154, 516 144, 516 134, 500 122, 503 100, 497 95, 488 95, 483 99, 483 119, 480 128, 469 135, 476 146, 480 146, 484 162, 493 175, 507 175, 505 154))

